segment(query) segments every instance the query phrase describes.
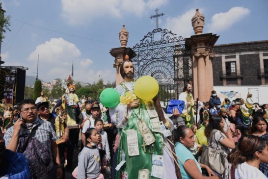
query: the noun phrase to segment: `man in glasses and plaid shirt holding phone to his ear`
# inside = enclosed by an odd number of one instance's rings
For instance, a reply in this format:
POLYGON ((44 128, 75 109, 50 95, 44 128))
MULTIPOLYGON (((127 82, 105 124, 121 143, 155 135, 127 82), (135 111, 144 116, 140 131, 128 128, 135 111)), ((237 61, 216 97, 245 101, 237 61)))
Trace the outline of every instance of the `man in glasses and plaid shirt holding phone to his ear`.
MULTIPOLYGON (((31 99, 25 99, 20 102, 18 104, 18 109, 20 111, 20 118, 15 122, 13 127, 6 130, 4 135, 6 149, 16 152, 19 141, 21 142, 21 137, 31 136, 32 140, 29 140, 29 143, 26 143, 27 146, 29 146, 30 142, 39 140, 39 143, 43 143, 43 146, 45 146, 44 150, 46 150, 50 156, 50 162, 47 166, 48 178, 55 179, 56 174, 58 178, 61 178, 62 170, 59 160, 59 151, 56 144, 56 141, 59 138, 54 132, 53 126, 51 123, 40 120, 37 117, 37 107, 35 102, 31 99)), ((36 158, 36 163, 37 162, 39 162, 38 158, 36 158)), ((31 173, 36 172, 36 169, 33 170, 31 170, 31 173)), ((40 173, 44 172, 39 170, 38 172, 40 173)), ((35 173, 35 175, 38 175, 38 173, 35 173)))

